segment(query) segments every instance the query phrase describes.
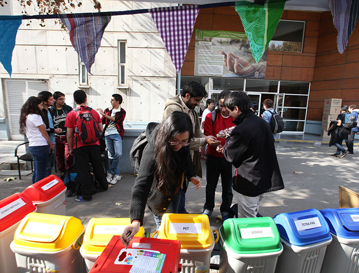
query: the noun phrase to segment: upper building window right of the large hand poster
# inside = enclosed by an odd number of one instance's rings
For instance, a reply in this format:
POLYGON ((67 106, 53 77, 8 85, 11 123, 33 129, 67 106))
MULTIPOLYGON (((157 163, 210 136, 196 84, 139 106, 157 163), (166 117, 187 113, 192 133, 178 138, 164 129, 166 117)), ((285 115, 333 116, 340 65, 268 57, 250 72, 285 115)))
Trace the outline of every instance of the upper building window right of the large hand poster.
POLYGON ((303 51, 305 22, 281 20, 269 42, 268 49, 274 51, 303 51))

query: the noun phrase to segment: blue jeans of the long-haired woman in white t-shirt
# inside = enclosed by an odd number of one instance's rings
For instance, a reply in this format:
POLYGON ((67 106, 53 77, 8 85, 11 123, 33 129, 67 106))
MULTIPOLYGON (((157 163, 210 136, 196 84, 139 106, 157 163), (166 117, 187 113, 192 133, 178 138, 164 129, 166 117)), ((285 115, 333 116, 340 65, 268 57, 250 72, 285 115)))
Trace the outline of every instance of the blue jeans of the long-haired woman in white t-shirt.
POLYGON ((49 161, 49 145, 29 146, 29 151, 34 162, 34 171, 32 173, 32 184, 47 177, 46 166, 49 161))

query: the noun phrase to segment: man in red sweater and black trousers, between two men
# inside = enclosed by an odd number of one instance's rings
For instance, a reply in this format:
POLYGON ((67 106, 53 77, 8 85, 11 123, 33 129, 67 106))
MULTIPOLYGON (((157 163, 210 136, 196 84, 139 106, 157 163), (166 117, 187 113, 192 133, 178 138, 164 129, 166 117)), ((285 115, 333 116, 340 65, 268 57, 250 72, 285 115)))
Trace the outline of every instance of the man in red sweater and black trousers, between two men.
MULTIPOLYGON (((226 107, 224 106, 224 97, 231 91, 222 91, 218 97, 218 109, 207 114, 204 123, 205 135, 217 135, 221 130, 229 127, 233 127, 233 118, 229 115, 226 107)), ((232 204, 232 164, 229 163, 223 155, 223 146, 226 143, 225 138, 218 138, 221 144, 218 148, 208 145, 207 148, 207 185, 206 185, 206 203, 203 208, 203 214, 207 214, 208 217, 212 215, 214 209, 214 195, 217 187, 218 178, 221 174, 222 181, 222 204, 220 207, 223 220, 228 219, 229 211, 232 204), (216 149, 221 150, 216 151, 216 149)))

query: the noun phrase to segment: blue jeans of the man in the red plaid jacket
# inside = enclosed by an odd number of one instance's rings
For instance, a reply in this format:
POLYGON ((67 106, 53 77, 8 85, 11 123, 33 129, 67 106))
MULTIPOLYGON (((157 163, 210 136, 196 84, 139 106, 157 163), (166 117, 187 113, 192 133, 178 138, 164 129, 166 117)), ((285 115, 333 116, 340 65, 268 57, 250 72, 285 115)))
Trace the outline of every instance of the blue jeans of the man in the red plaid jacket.
POLYGON ((122 138, 118 133, 105 136, 108 157, 111 162, 109 173, 119 175, 119 159, 122 155, 122 138))

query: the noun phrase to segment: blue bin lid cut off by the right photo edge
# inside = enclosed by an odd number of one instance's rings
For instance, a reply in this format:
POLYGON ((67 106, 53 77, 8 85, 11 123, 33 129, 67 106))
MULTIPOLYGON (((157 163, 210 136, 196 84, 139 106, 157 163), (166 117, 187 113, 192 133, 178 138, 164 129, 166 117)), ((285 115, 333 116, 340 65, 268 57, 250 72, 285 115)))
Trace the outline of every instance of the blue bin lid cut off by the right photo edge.
POLYGON ((327 208, 321 213, 335 236, 359 239, 359 208, 327 208))

